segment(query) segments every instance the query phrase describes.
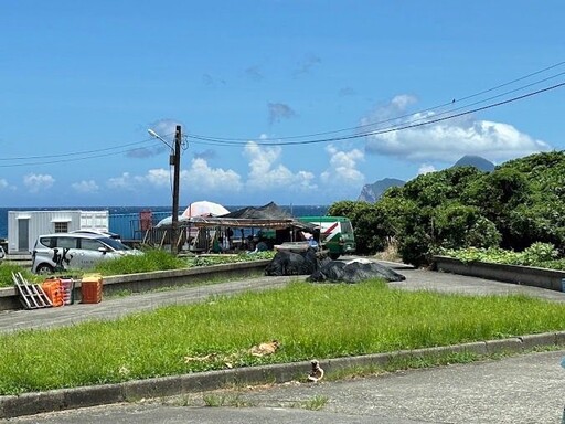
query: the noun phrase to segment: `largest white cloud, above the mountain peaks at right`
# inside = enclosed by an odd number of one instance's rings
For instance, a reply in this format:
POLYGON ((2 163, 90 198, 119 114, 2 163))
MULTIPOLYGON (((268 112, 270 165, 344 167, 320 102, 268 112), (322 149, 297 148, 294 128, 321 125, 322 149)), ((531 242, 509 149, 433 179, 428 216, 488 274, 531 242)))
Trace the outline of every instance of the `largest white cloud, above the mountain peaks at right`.
MULTIPOLYGON (((391 104, 377 108, 362 119, 362 125, 406 116, 407 107, 414 104, 412 96, 397 96, 391 104)), ((445 116, 445 115, 441 115, 445 116)), ((419 113, 381 125, 418 124, 440 117, 434 113, 419 113)), ((375 126, 375 129, 379 127, 375 126)), ((551 150, 546 142, 519 131, 510 124, 476 119, 471 115, 430 125, 370 136, 366 151, 395 156, 407 160, 437 160, 452 162, 465 155, 482 156, 491 161, 504 161, 539 151, 551 150)))

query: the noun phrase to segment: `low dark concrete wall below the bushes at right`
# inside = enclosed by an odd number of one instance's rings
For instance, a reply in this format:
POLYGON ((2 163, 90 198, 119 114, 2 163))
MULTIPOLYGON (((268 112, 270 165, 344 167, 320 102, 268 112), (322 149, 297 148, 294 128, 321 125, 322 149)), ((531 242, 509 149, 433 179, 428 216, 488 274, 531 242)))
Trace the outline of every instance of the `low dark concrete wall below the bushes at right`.
POLYGON ((564 292, 565 272, 563 271, 486 262, 463 263, 447 256, 434 256, 433 262, 436 271, 564 292))

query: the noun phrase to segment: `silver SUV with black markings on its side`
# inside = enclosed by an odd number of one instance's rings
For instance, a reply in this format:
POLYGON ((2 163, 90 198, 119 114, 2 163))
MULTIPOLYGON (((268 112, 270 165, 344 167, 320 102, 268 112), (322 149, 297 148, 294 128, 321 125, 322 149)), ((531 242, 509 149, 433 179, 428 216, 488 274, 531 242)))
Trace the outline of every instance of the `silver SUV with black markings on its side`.
POLYGON ((46 234, 35 241, 31 271, 35 274, 52 274, 68 268, 84 269, 100 261, 131 254, 138 255, 141 252, 104 234, 46 234))

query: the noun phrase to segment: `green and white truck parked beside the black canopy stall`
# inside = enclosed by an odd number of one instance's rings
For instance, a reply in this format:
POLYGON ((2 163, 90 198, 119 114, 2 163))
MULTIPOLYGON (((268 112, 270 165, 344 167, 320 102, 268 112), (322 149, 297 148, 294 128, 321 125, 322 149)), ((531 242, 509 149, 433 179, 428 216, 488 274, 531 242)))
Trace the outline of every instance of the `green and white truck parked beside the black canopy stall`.
POLYGON ((299 216, 298 221, 310 223, 320 232, 319 243, 332 259, 355 253, 353 225, 345 216, 299 216))

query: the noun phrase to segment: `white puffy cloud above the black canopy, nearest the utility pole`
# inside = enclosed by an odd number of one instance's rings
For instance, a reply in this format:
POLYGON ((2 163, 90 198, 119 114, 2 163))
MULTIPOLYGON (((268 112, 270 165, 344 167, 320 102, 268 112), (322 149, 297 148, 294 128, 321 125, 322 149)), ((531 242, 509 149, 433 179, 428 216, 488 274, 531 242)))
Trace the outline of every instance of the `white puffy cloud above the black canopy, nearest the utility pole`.
POLYGON ((312 190, 317 186, 315 176, 309 171, 292 172, 281 163, 280 146, 263 147, 254 141, 247 142, 244 156, 249 160, 249 174, 246 186, 253 190, 269 191, 284 189, 285 191, 312 190))

